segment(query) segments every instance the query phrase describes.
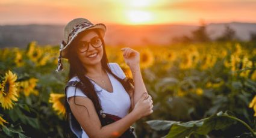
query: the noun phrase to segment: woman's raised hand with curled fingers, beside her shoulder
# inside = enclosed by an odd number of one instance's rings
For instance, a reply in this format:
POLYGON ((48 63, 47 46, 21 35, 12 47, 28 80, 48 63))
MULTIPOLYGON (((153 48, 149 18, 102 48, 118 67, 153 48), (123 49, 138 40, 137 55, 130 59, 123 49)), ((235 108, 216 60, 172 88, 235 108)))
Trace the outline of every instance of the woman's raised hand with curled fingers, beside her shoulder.
POLYGON ((121 49, 123 52, 123 58, 125 59, 125 63, 130 68, 136 68, 140 65, 140 53, 130 47, 124 47, 121 49))

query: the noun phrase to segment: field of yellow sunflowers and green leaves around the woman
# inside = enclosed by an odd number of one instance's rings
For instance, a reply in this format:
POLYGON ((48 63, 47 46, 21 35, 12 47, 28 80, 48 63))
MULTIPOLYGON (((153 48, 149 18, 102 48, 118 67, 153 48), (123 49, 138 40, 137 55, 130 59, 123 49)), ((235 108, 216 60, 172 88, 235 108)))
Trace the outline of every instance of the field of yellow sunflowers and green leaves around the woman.
MULTIPOLYGON (((121 46, 106 46, 126 76, 121 46)), ((133 124, 137 137, 256 137, 256 43, 131 47, 140 52, 154 113, 133 124)), ((0 137, 64 137, 68 63, 59 46, 0 49, 0 137)))

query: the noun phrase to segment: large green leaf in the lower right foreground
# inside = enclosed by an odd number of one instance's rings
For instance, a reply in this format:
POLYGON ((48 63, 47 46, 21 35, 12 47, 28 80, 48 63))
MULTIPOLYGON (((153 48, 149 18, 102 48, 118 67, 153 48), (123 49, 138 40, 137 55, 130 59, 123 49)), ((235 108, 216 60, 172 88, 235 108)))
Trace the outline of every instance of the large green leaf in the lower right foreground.
MULTIPOLYGON (((169 130, 169 133, 165 136, 168 138, 182 138, 190 137, 192 134, 199 134, 199 136, 207 136, 213 130, 223 130, 237 121, 243 122, 233 115, 229 115, 228 112, 219 112, 216 115, 212 115, 208 118, 201 119, 199 121, 189 122, 175 122, 175 121, 160 121, 152 120, 147 121, 150 127, 154 130, 169 130)), ((243 122, 244 123, 244 122, 243 122)), ((249 127, 245 124, 246 127, 249 127)), ((256 133, 251 130, 252 136, 256 136, 256 133)), ((244 134, 245 135, 245 134, 244 134)))

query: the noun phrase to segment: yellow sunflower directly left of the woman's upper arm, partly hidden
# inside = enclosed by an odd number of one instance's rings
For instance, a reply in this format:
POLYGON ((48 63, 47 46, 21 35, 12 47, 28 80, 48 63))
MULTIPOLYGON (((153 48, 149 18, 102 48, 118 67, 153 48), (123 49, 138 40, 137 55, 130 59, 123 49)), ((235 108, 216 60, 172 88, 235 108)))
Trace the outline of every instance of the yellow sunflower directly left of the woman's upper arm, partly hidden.
POLYGON ((52 108, 57 111, 58 115, 64 113, 64 94, 51 93, 49 97, 49 103, 52 103, 52 108))

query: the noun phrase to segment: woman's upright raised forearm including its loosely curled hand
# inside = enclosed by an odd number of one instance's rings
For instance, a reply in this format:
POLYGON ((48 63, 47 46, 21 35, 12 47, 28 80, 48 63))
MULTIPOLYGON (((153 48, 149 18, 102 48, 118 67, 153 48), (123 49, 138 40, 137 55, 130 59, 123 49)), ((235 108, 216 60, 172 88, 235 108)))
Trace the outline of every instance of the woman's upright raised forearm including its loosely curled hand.
POLYGON ((131 72, 133 74, 133 80, 134 80, 133 102, 135 105, 137 101, 140 99, 140 97, 142 96, 142 94, 144 92, 147 92, 145 84, 143 82, 142 73, 140 71, 140 53, 129 47, 125 47, 121 50, 123 50, 123 57, 125 59, 125 62, 130 67, 131 72))

